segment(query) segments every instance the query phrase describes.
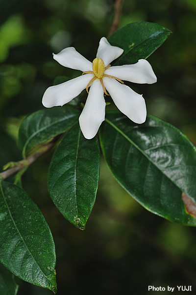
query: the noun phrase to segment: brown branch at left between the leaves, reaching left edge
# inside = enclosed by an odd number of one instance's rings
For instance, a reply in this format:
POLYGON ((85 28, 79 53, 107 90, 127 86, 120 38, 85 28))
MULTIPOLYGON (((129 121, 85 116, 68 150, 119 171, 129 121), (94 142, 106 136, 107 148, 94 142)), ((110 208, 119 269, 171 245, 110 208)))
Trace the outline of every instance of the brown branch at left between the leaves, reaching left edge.
POLYGON ((48 152, 54 146, 55 143, 56 143, 56 140, 54 138, 54 140, 49 142, 49 144, 42 146, 42 148, 40 148, 37 152, 35 152, 34 154, 27 157, 25 160, 16 162, 14 167, 9 168, 6 171, 1 172, 0 173, 0 178, 5 179, 5 178, 11 176, 12 174, 22 170, 23 168, 28 167, 33 162, 35 162, 39 157, 41 157, 46 152, 48 152))

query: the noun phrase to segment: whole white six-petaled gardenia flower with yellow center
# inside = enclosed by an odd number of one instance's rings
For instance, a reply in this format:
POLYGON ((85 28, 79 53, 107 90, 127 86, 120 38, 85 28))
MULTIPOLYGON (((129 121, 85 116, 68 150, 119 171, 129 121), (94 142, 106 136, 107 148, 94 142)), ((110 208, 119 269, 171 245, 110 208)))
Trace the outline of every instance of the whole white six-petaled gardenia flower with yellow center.
POLYGON ((111 66, 110 63, 122 54, 123 49, 110 45, 105 37, 100 39, 93 62, 85 59, 73 47, 53 54, 53 58, 61 65, 80 70, 82 75, 49 87, 44 93, 43 105, 46 108, 63 106, 86 88, 88 97, 79 117, 79 125, 87 139, 97 134, 105 119, 104 94, 110 95, 117 108, 133 122, 144 123, 147 109, 143 96, 123 85, 122 80, 152 84, 156 82, 156 76, 146 59, 139 59, 135 64, 111 66))

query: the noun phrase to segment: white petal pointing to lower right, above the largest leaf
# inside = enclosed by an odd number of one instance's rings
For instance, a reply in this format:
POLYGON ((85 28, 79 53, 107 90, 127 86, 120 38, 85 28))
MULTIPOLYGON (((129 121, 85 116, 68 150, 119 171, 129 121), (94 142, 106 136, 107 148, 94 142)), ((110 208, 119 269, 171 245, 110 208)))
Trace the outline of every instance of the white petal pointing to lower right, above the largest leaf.
POLYGON ((147 117, 146 103, 142 95, 112 78, 103 78, 105 88, 110 93, 117 108, 133 122, 142 124, 147 117))

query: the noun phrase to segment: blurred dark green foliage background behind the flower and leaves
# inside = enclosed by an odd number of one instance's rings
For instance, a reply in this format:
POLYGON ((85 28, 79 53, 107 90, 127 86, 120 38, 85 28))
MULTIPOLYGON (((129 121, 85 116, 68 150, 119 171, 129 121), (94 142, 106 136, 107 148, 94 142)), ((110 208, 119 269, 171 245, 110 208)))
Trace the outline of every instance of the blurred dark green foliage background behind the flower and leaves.
MULTIPOLYGON (((73 46, 93 60, 113 18, 112 0, 0 1, 0 166, 21 159, 17 132, 25 115, 42 109, 42 95, 57 76, 77 71, 52 59, 73 46)), ((124 0, 120 27, 159 23, 173 31, 148 60, 154 85, 144 93, 149 114, 180 128, 196 144, 196 1, 124 0)), ((84 95, 86 97, 86 94, 84 95)), ((196 229, 149 213, 116 183, 101 163, 96 205, 84 232, 74 228, 49 199, 51 152, 23 177, 25 191, 41 208, 54 235, 58 295, 149 294, 148 285, 192 285, 196 293, 196 229)), ((19 295, 47 295, 22 283, 19 295)))

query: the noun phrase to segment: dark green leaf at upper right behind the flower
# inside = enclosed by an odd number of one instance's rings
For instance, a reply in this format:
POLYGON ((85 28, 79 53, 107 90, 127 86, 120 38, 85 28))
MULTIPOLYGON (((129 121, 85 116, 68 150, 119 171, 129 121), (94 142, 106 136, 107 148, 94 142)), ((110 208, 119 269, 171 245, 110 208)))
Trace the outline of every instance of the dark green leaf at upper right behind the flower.
POLYGON ((110 44, 123 48, 124 52, 115 65, 135 63, 147 59, 172 33, 161 25, 137 22, 116 30, 109 38, 110 44))

